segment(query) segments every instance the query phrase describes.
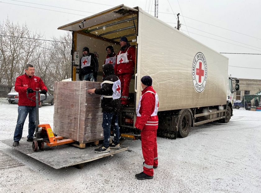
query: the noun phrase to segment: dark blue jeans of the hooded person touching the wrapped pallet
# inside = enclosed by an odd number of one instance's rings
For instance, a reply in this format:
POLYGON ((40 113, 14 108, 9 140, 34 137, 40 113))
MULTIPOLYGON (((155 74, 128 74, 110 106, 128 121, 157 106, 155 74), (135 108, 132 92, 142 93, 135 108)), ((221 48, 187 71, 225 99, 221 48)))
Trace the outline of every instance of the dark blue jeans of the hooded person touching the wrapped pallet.
POLYGON ((103 113, 103 135, 104 135, 104 141, 103 145, 104 147, 108 148, 109 147, 109 140, 111 136, 111 124, 113 127, 113 134, 114 134, 114 139, 113 143, 114 144, 119 144, 119 125, 118 125, 118 113, 103 113))

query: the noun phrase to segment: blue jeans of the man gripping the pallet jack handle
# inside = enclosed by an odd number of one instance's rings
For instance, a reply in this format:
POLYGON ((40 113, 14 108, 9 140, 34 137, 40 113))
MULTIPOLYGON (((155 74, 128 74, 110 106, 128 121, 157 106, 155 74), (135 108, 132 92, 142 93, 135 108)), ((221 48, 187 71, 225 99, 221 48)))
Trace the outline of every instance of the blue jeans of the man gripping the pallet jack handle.
POLYGON ((28 124, 28 136, 27 138, 34 137, 35 121, 36 121, 36 107, 35 106, 18 106, 18 118, 16 124, 16 130, 14 134, 14 141, 20 141, 23 134, 23 128, 25 119, 29 113, 29 124, 28 124))

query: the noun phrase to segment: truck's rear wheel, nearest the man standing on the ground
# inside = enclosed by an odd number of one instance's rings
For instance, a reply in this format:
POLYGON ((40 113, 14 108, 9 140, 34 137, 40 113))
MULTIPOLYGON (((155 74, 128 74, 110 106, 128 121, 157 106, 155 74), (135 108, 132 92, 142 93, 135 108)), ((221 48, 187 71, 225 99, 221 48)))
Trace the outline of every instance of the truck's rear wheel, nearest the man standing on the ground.
POLYGON ((190 133, 191 127, 191 115, 190 111, 185 110, 181 113, 179 120, 179 135, 181 138, 187 137, 190 133))

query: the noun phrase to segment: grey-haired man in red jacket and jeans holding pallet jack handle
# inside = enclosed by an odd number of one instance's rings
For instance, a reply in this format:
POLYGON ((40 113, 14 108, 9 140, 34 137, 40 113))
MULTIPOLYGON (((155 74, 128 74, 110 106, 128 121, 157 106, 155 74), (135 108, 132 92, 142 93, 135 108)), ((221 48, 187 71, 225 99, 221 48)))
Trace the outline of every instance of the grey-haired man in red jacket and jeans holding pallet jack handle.
MULTIPOLYGON (((41 78, 34 76, 34 66, 27 64, 25 67, 25 74, 16 78, 15 90, 19 93, 18 100, 18 118, 16 124, 16 130, 14 134, 13 146, 18 146, 19 141, 22 138, 23 127, 25 119, 29 113, 29 125, 28 125, 28 136, 27 141, 33 141, 35 121, 36 121, 36 103, 27 98, 26 92, 28 92, 28 97, 35 100, 34 91, 39 91, 41 89, 41 94, 46 94, 47 87, 44 85, 41 78)), ((39 95, 40 98, 40 95, 39 95)))

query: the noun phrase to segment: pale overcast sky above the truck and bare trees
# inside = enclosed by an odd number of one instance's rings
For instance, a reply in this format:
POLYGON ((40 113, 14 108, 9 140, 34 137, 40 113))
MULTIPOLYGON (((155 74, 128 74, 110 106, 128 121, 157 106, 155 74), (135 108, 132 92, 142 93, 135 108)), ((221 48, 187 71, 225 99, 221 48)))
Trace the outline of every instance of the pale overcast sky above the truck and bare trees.
MULTIPOLYGON (((65 33, 57 30, 59 26, 120 4, 139 6, 154 16, 155 0, 2 0, 0 22, 8 16, 10 21, 26 23, 32 31, 41 32, 45 39, 50 40, 53 36, 58 37, 65 33)), ((261 54, 260 7, 260 0, 158 0, 158 18, 176 26, 173 12, 180 13, 184 16, 180 16, 181 30, 218 52, 261 54)), ((261 55, 224 55, 229 58, 228 73, 232 77, 261 79, 261 55)))

